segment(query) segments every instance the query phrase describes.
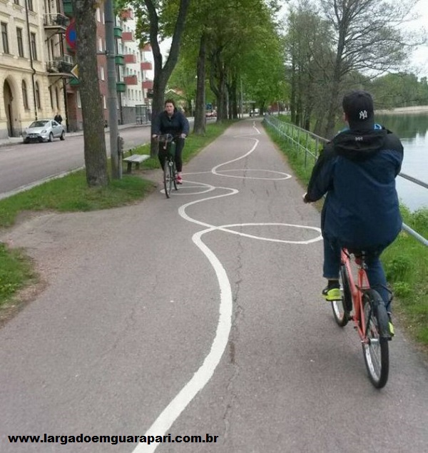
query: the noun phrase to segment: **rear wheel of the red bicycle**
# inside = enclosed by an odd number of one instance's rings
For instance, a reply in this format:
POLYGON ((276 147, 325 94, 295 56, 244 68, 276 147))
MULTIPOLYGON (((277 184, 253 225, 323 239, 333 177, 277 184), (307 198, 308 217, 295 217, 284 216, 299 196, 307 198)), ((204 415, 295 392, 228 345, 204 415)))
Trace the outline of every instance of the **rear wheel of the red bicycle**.
POLYGON ((369 379, 377 389, 384 387, 389 375, 389 346, 387 309, 375 290, 362 295, 365 317, 365 341, 362 343, 369 379))

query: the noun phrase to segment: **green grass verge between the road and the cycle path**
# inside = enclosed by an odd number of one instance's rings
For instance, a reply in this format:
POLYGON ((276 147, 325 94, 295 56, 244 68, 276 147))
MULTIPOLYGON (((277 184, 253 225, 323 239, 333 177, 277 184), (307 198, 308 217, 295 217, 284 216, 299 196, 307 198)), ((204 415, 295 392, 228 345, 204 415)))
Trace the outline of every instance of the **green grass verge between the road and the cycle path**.
MULTIPOLYGON (((207 124, 204 136, 190 134, 183 149, 183 162, 200 152, 220 136, 233 121, 207 124)), ((138 146, 133 153, 149 154, 150 146, 138 146)), ((51 180, 22 193, 0 200, 0 228, 16 223, 20 213, 57 211, 59 213, 116 208, 143 199, 156 185, 143 178, 144 170, 160 168, 157 158, 146 160, 141 170, 112 180, 106 188, 89 188, 84 170, 51 180)), ((36 279, 34 265, 23 250, 10 248, 0 242, 0 310, 16 302, 20 290, 36 279)))

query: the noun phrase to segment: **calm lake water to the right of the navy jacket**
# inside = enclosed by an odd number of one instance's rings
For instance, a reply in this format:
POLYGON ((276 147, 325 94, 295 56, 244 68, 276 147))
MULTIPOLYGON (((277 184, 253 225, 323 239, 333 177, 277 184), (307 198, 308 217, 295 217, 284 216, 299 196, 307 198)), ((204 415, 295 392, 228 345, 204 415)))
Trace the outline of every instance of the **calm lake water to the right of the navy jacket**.
MULTIPOLYGON (((376 114, 374 119, 399 136, 404 146, 402 173, 428 183, 428 112, 376 114)), ((428 189, 397 177, 397 192, 410 210, 428 208, 428 189)))

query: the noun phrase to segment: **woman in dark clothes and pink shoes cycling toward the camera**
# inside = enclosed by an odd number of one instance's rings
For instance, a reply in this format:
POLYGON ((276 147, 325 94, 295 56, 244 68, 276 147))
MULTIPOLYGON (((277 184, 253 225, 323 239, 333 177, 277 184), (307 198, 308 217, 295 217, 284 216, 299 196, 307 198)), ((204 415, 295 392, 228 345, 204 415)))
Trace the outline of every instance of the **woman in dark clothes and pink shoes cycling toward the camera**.
MULTIPOLYGON (((177 110, 175 103, 172 99, 165 101, 165 110, 154 118, 152 123, 152 137, 156 138, 163 134, 170 133, 175 142, 175 166, 177 167, 177 183, 183 184, 181 171, 183 170, 183 161, 181 159, 181 152, 184 148, 184 139, 189 134, 188 119, 177 110)), ((165 165, 165 154, 158 153, 161 168, 165 165)))

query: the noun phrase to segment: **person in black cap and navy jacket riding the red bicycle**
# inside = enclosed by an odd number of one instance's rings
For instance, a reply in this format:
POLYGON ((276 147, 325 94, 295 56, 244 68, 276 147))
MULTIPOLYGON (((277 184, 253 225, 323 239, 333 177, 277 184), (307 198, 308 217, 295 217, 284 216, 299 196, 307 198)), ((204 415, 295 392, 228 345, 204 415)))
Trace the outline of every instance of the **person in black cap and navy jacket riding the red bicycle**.
POLYGON ((305 203, 327 194, 321 214, 326 300, 340 297, 340 249, 365 250, 367 277, 385 305, 387 281, 379 255, 402 227, 395 189, 403 159, 399 138, 374 124, 373 101, 366 91, 352 91, 342 101, 349 129, 322 150, 312 170, 305 203))

